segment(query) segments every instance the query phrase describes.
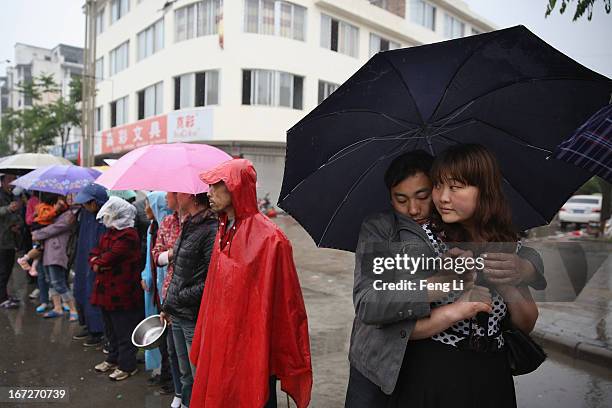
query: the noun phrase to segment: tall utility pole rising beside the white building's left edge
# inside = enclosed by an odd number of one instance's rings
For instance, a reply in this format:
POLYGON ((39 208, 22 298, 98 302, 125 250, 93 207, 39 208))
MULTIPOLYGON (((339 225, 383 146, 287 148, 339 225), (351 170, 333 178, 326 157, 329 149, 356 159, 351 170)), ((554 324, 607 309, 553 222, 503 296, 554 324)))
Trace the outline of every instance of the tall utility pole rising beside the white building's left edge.
POLYGON ((83 110, 81 142, 81 165, 94 165, 94 135, 96 111, 96 0, 85 3, 85 50, 83 69, 83 110))

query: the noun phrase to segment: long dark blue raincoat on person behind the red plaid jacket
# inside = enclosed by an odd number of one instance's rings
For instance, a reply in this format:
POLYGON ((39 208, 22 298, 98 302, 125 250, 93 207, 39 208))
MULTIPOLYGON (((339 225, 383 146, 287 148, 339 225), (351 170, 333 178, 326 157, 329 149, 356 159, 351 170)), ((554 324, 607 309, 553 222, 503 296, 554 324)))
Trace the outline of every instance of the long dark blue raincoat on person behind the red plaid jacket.
MULTIPOLYGON (((106 190, 100 192, 100 197, 106 197, 106 190)), ((106 200, 96 199, 99 207, 102 207, 106 200)), ((74 297, 76 302, 82 307, 85 324, 90 333, 103 333, 104 323, 102 312, 99 307, 93 306, 89 301, 93 291, 95 273, 89 266, 89 253, 98 246, 100 237, 106 232, 106 227, 96 221, 96 216, 84 208, 79 211, 79 236, 74 260, 74 297)))

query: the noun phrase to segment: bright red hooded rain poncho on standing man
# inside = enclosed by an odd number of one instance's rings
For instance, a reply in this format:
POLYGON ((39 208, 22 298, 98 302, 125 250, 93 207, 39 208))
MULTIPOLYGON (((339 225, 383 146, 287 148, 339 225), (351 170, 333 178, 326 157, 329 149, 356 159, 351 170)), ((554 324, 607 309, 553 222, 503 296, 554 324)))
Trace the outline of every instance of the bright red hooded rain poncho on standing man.
POLYGON ((201 175, 207 184, 225 182, 236 229, 226 231, 220 214, 190 354, 192 408, 260 408, 271 375, 299 408, 310 402, 308 321, 291 244, 258 211, 256 177, 244 159, 201 175))

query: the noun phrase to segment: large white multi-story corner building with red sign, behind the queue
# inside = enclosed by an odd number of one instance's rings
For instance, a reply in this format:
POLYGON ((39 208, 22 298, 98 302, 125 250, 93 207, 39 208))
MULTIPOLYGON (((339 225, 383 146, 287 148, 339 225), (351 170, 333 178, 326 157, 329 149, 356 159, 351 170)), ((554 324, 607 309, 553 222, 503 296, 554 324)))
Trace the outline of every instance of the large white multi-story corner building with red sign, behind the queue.
POLYGON ((381 50, 493 29, 450 0, 97 0, 98 156, 204 142, 280 190, 287 129, 381 50))

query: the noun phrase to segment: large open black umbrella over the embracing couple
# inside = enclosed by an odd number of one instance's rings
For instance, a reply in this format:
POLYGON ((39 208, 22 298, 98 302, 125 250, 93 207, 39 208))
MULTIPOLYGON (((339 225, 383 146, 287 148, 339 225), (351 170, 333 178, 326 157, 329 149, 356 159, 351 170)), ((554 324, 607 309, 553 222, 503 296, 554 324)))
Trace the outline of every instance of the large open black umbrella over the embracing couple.
POLYGON ((378 53, 287 132, 279 206, 317 245, 353 251, 363 218, 389 208, 393 158, 480 143, 516 227, 546 224, 589 177, 551 153, 611 91, 523 26, 378 53))

